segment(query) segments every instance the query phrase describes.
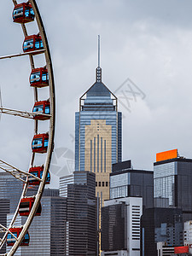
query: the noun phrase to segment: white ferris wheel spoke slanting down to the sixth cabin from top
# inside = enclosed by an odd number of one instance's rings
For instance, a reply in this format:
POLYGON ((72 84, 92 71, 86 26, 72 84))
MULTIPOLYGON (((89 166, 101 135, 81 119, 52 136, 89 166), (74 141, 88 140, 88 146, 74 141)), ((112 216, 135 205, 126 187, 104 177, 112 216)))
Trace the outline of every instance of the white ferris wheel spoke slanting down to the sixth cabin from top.
POLYGON ((15 178, 19 179, 23 183, 27 183, 27 179, 24 179, 24 177, 33 177, 39 182, 42 182, 41 178, 33 175, 32 173, 21 171, 20 169, 16 168, 15 166, 9 165, 3 160, 0 160, 0 169, 5 172, 9 172, 11 175, 13 175, 15 178))

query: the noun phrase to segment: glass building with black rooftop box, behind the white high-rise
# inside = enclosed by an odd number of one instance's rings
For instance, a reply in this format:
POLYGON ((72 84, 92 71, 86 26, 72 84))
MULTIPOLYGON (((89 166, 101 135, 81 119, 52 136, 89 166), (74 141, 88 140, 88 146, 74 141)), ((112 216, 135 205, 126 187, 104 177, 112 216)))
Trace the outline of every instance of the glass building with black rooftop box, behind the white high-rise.
POLYGON ((154 172, 135 170, 131 160, 113 164, 110 174, 110 199, 143 197, 143 207, 154 207, 154 172))

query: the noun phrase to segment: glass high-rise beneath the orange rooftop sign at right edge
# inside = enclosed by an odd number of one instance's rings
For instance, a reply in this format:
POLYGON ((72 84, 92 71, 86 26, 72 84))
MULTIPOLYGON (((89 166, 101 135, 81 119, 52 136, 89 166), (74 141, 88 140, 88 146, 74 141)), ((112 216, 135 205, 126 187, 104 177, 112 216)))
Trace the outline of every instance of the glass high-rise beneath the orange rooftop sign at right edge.
POLYGON ((177 157, 154 163, 154 207, 177 207, 192 219, 192 160, 177 157))

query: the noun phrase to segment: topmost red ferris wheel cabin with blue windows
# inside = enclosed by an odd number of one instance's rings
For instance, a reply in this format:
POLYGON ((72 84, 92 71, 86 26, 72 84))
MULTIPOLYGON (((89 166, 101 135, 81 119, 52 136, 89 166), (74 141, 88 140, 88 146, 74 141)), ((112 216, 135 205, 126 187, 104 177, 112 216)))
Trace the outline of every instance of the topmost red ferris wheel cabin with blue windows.
POLYGON ((34 11, 30 3, 20 3, 15 5, 13 20, 16 23, 27 23, 35 19, 34 11))

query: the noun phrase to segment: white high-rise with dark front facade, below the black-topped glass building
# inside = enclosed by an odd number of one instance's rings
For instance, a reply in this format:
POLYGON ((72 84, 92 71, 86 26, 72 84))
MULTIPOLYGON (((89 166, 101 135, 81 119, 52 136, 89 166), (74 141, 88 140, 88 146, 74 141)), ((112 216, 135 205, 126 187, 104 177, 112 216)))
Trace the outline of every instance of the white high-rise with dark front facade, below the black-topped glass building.
POLYGON ((102 256, 108 255, 109 252, 112 253, 110 255, 140 255, 140 219, 142 214, 142 197, 125 197, 104 201, 104 207, 102 207, 102 256))

